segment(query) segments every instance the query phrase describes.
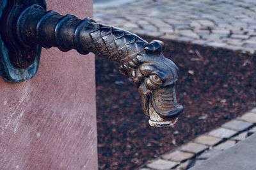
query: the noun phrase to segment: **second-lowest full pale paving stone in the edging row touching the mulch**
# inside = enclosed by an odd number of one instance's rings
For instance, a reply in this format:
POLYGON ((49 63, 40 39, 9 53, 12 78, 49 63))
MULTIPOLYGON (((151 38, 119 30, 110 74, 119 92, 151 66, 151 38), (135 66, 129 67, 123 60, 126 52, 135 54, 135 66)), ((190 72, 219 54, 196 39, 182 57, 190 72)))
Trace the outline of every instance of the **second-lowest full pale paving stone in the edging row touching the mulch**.
POLYGON ((173 151, 172 153, 166 153, 162 157, 165 160, 172 160, 174 162, 182 162, 182 161, 187 160, 193 156, 194 156, 193 153, 176 150, 176 151, 173 151))

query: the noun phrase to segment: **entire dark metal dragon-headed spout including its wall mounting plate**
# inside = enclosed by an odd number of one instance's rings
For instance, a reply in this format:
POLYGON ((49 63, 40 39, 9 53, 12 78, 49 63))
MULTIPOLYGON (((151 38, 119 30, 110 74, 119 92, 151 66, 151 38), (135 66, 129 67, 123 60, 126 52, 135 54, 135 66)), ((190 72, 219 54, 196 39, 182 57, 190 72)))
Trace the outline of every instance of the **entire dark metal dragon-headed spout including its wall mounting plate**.
POLYGON ((116 27, 46 11, 44 0, 0 0, 0 73, 6 81, 31 79, 39 65, 41 46, 120 63, 120 72, 138 86, 142 108, 154 127, 170 126, 183 107, 177 104, 177 66, 164 58, 164 43, 150 43, 116 27))

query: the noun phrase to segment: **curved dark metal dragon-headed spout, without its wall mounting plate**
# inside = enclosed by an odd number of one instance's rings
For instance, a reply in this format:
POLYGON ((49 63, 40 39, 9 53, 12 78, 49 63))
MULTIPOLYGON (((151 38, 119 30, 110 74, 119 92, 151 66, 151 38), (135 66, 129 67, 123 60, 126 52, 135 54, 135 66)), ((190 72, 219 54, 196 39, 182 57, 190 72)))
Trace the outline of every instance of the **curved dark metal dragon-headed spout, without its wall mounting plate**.
MULTIPOLYGON (((62 51, 76 49, 81 54, 93 52, 120 63, 120 72, 129 75, 138 86, 143 111, 150 116, 152 126, 173 125, 182 112, 175 94, 178 68, 163 56, 161 41, 148 43, 129 31, 97 24, 89 18, 80 20, 70 14, 46 12, 39 4, 20 11, 14 32, 13 42, 6 44, 13 43, 19 49, 33 49, 36 45, 58 47, 62 51)), ((28 68, 35 55, 26 55, 27 58, 22 55, 11 58, 12 65, 28 68)))

